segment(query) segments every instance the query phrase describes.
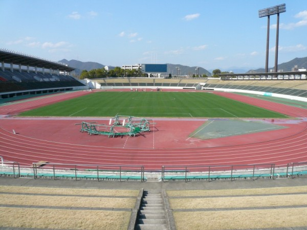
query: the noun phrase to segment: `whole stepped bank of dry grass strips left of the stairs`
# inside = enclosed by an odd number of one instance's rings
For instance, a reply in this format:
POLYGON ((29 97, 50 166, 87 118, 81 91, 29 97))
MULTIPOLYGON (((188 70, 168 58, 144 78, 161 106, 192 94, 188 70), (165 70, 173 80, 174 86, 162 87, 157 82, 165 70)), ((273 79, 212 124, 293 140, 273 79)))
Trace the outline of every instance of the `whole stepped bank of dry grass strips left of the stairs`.
POLYGON ((0 186, 0 204, 8 206, 0 207, 0 228, 127 229, 131 212, 91 209, 134 209, 138 194, 138 190, 0 186))

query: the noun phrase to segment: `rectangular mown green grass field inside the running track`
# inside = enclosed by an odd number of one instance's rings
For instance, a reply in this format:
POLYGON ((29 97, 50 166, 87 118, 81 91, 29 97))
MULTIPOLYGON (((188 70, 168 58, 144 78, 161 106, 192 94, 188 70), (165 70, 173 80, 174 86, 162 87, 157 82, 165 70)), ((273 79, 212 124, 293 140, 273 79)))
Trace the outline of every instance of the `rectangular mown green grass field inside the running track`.
POLYGON ((40 107, 20 116, 287 118, 284 114, 210 93, 99 92, 40 107))

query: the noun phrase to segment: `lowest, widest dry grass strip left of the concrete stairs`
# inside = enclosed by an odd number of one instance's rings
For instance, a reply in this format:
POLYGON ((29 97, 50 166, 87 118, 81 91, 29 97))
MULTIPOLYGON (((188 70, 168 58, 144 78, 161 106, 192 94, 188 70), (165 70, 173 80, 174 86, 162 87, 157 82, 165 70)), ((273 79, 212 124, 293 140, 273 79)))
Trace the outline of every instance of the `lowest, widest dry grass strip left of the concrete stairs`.
POLYGON ((0 226, 61 229, 127 229, 131 213, 93 210, 0 208, 0 226))

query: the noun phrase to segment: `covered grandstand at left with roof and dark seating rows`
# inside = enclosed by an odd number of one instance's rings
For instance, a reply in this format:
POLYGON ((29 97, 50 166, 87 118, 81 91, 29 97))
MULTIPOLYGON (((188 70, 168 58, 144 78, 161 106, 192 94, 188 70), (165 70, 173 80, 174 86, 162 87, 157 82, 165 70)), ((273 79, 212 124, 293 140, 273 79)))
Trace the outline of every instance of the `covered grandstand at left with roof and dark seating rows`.
POLYGON ((0 98, 84 89, 75 69, 26 54, 0 49, 0 98))

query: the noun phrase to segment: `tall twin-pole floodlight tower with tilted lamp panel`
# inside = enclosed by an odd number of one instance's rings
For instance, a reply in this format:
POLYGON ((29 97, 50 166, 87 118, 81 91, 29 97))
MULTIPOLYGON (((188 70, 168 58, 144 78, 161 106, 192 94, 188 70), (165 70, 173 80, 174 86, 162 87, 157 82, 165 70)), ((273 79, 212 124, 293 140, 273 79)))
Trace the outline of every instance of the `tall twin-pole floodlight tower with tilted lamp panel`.
POLYGON ((270 15, 277 14, 277 26, 276 26, 276 45, 275 45, 275 66, 274 72, 277 72, 278 62, 278 35, 279 35, 279 13, 286 12, 286 4, 281 4, 258 11, 259 17, 268 16, 268 28, 267 28, 267 54, 266 54, 266 73, 268 73, 269 65, 269 34, 270 34, 270 15))

